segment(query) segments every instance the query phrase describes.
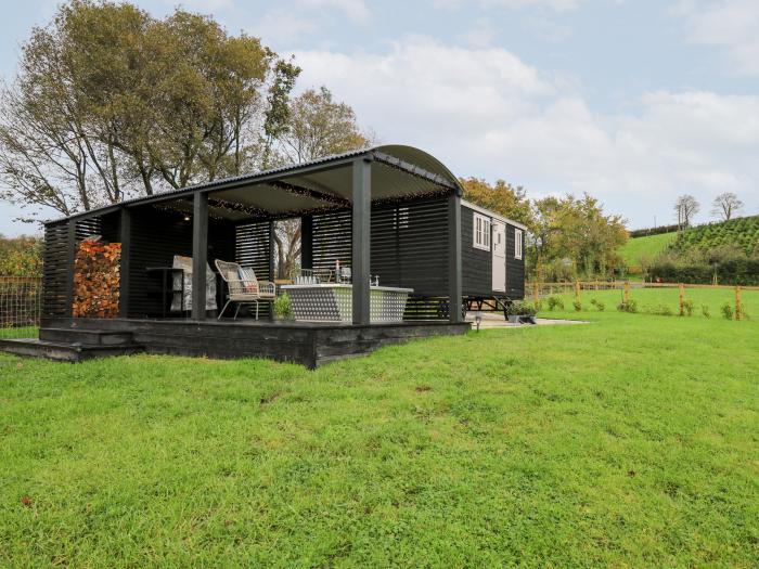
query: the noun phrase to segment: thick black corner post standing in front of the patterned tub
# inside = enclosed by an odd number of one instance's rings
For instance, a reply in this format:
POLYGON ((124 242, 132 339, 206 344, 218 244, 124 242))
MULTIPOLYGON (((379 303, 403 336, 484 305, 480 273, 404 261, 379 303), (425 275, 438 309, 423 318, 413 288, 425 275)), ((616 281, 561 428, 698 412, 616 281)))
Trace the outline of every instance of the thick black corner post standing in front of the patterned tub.
POLYGON ((369 324, 369 267, 372 228, 372 161, 365 157, 353 160, 353 235, 352 283, 353 324, 369 324))

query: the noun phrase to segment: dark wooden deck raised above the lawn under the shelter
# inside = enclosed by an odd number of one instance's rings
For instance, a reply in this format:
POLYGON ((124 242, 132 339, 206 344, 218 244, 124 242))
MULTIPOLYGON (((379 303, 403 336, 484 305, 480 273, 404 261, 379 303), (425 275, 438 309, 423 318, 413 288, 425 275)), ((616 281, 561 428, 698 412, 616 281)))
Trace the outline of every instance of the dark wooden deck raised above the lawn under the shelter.
POLYGON ((91 339, 93 336, 120 337, 129 345, 141 346, 147 353, 218 359, 267 358, 314 368, 334 360, 363 355, 390 344, 464 334, 469 326, 469 323, 447 321, 357 326, 262 320, 54 318, 42 320, 40 339, 89 344, 95 341, 91 339))

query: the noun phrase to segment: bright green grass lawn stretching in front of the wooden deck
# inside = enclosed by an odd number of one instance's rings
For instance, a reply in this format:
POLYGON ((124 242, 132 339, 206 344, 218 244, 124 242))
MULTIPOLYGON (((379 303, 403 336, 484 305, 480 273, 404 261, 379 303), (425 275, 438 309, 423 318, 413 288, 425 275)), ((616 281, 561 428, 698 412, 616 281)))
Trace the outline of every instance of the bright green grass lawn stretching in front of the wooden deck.
POLYGON ((313 373, 0 355, 0 566, 756 567, 759 321, 582 318, 313 373))

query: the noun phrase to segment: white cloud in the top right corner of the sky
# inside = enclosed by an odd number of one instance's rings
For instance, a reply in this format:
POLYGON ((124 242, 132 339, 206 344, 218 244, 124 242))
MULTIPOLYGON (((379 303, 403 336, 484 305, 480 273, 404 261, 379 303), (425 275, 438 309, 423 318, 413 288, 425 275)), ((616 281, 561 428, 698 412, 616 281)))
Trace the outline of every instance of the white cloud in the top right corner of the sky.
POLYGON ((694 43, 726 50, 737 74, 759 75, 759 2, 723 0, 681 2, 677 14, 685 17, 694 43))

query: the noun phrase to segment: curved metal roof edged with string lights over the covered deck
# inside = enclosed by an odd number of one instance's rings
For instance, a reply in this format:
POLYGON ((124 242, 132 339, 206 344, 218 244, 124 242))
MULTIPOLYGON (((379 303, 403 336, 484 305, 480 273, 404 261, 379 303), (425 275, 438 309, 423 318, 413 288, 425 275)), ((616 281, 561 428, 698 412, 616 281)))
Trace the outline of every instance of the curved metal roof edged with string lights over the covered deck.
MULTIPOLYGON (((229 194, 230 191, 236 190, 237 192, 240 192, 241 190, 252 190, 254 186, 260 187, 261 185, 270 184, 271 182, 276 180, 297 178, 299 181, 306 182, 306 185, 308 186, 310 185, 308 184, 308 182, 311 179, 316 179, 320 174, 323 174, 323 172, 334 168, 348 167, 355 158, 358 158, 360 156, 366 156, 368 158, 377 160, 378 163, 382 163, 394 169, 401 170, 407 174, 415 177, 417 181, 422 179, 421 181, 424 182, 426 186, 438 185, 449 187, 450 190, 455 191, 459 195, 463 194, 463 189, 459 183, 458 178, 453 176, 453 173, 433 155, 420 148, 403 144, 383 144, 349 151, 342 154, 324 156, 322 158, 317 158, 316 160, 311 160, 308 163, 293 164, 249 174, 223 178, 177 190, 169 190, 150 196, 133 197, 131 199, 125 199, 118 204, 112 204, 97 209, 91 209, 89 211, 75 214, 67 218, 51 220, 48 221, 48 223, 55 223, 72 218, 83 218, 102 215, 108 211, 117 210, 118 208, 126 205, 166 202, 183 197, 184 195, 193 194, 195 192, 219 191, 229 194)), ((381 179, 384 181, 387 180, 387 177, 385 176, 381 179)), ((331 187, 331 190, 333 190, 335 194, 343 195, 344 197, 348 197, 350 195, 350 177, 338 177, 334 178, 331 181, 333 182, 333 184, 330 185, 334 185, 334 187, 331 187)), ((327 189, 323 184, 320 185, 325 190, 327 189)), ((419 186, 420 184, 416 185, 419 186)), ((377 190, 380 189, 377 187, 377 190)), ((421 192, 422 190, 420 189, 419 191, 421 192)), ((374 191, 372 193, 374 193, 374 191)), ((383 192, 383 197, 387 197, 388 193, 402 195, 403 189, 400 187, 400 184, 398 183, 388 184, 388 187, 386 187, 383 192)), ((409 192, 406 191, 406 193, 409 192)), ((229 194, 229 196, 232 197, 232 194, 229 194)))

